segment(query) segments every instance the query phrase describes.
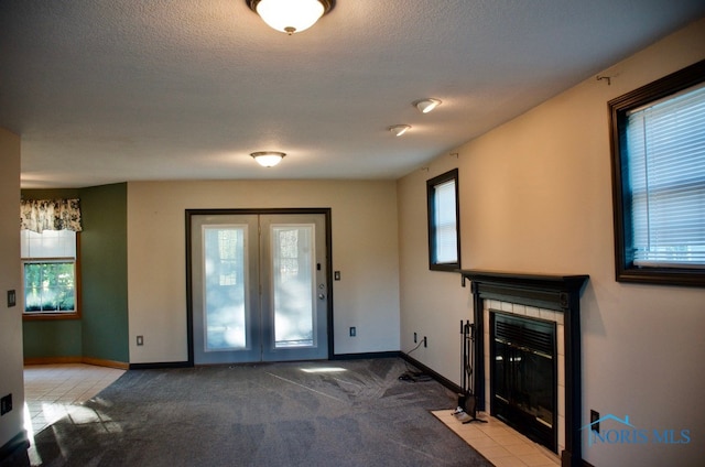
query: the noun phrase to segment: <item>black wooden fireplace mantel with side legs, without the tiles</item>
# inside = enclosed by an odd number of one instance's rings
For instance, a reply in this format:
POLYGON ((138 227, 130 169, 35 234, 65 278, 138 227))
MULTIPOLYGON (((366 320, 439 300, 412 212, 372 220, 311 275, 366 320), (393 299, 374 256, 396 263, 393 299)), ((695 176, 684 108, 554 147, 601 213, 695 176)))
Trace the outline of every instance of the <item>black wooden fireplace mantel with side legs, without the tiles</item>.
POLYGON ((476 326, 474 388, 485 404, 485 300, 498 300, 527 306, 552 309, 564 315, 565 339, 565 449, 563 467, 583 463, 582 368, 581 368, 581 293, 588 275, 550 275, 462 270, 463 286, 470 281, 476 326))

